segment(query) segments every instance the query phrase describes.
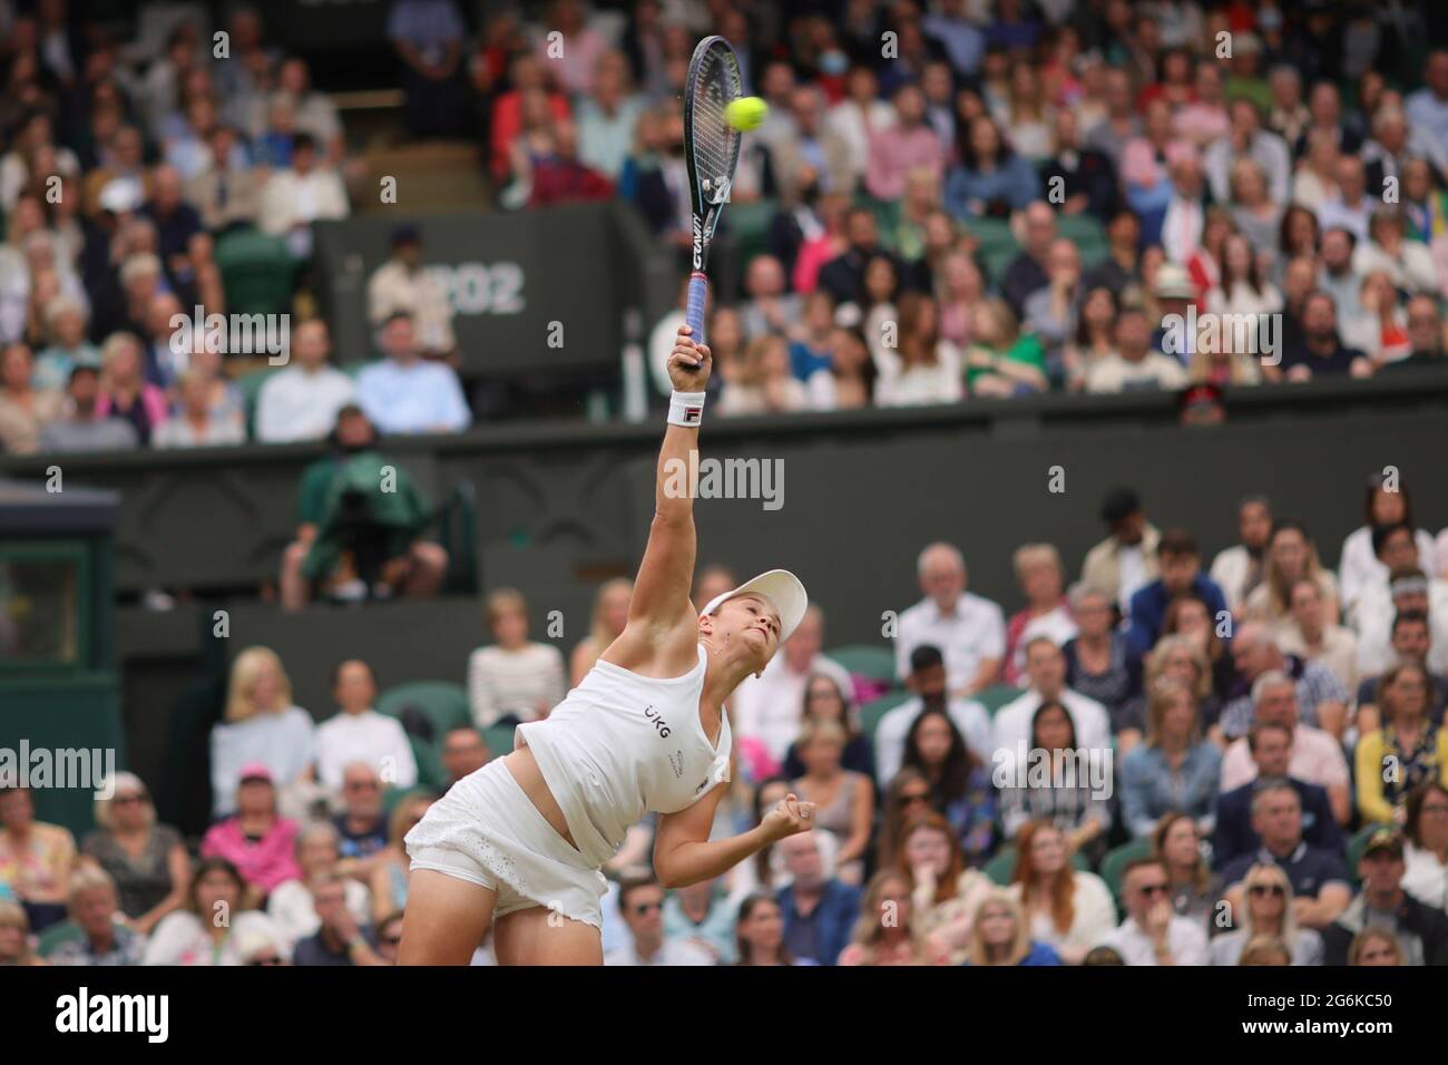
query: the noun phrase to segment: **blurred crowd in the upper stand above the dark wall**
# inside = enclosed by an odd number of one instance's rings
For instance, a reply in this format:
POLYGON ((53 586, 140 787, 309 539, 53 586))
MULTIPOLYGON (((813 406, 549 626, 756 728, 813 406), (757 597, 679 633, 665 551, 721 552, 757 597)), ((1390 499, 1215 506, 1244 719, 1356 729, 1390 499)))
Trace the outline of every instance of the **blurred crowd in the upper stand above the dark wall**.
MULTIPOLYGON (((382 432, 485 413, 414 226, 368 280, 372 345, 333 355, 311 226, 350 214, 365 165, 261 9, 219 25, 224 55, 193 20, 117 42, 80 4, 0 3, 0 449, 316 439, 349 400, 382 432), (178 342, 177 314, 256 306, 256 270, 285 369, 178 342)), ((769 113, 711 267, 733 414, 1148 388, 1219 416, 1222 388, 1444 365, 1435 30, 1405 3, 1193 0, 387 20, 407 133, 473 139, 504 209, 634 204, 681 272, 688 59, 734 45, 769 113)))

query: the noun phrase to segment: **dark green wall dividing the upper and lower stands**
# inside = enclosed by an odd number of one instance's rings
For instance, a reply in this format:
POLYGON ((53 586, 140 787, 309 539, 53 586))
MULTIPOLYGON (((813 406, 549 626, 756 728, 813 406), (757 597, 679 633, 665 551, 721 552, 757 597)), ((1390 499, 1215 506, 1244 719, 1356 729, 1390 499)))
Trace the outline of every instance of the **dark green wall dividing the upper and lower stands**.
MULTIPOLYGON (((1102 536, 1096 510, 1134 485, 1151 520, 1183 525, 1211 554, 1232 542, 1234 504, 1268 493, 1305 520, 1325 561, 1361 523, 1367 475, 1397 467, 1419 523, 1448 525, 1448 377, 1255 390, 1226 425, 1177 426, 1170 397, 1051 397, 921 410, 707 419, 704 455, 783 464, 783 507, 701 500, 699 561, 796 568, 831 613, 831 640, 877 636, 879 613, 917 596, 915 554, 960 545, 972 587, 1018 604, 1011 552, 1056 543, 1074 574, 1102 536), (1053 467, 1064 493, 1048 491, 1053 467)), ((631 572, 653 509, 659 426, 530 425, 414 438, 390 449, 440 498, 478 491, 485 588, 513 584, 562 610, 566 642, 591 590, 631 572)), ((123 493, 117 587, 236 594, 275 577, 295 523, 295 484, 321 449, 198 449, 71 456, 67 483, 123 493)), ((6 459, 36 475, 43 464, 6 459)), ((379 619, 382 614, 379 614, 379 619)))

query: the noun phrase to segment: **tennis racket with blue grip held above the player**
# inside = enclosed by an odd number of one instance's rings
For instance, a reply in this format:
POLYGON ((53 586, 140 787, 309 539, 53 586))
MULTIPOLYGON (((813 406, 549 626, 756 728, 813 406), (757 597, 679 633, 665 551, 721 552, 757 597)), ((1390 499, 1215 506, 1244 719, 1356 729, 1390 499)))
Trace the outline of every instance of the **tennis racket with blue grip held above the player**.
POLYGON ((695 343, 704 343, 704 298, 710 288, 704 267, 710 242, 738 164, 740 133, 724 119, 724 109, 743 93, 734 48, 721 36, 704 38, 689 59, 689 80, 683 85, 683 155, 694 210, 694 272, 683 319, 695 343))

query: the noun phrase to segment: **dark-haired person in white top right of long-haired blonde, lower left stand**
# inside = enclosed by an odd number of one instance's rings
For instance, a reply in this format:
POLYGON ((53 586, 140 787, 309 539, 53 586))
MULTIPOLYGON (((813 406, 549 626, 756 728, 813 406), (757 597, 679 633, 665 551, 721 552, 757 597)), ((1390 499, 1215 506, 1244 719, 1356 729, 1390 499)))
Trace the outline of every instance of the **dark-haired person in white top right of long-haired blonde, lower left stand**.
POLYGON ((366 762, 376 768, 384 784, 410 788, 417 784, 413 745, 395 717, 372 709, 376 681, 372 667, 361 659, 342 662, 332 678, 332 697, 339 713, 317 726, 317 780, 340 791, 346 768, 366 762))

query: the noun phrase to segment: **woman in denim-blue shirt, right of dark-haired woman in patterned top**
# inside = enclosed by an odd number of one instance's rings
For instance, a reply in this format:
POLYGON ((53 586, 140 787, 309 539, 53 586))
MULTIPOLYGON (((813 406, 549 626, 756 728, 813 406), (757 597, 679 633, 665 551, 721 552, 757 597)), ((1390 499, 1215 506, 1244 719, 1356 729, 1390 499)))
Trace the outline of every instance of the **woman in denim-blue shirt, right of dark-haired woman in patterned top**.
POLYGON ((1121 811, 1132 836, 1150 836, 1169 810, 1211 832, 1222 752, 1202 738, 1192 691, 1158 681, 1147 707, 1147 740, 1121 759, 1121 811))

